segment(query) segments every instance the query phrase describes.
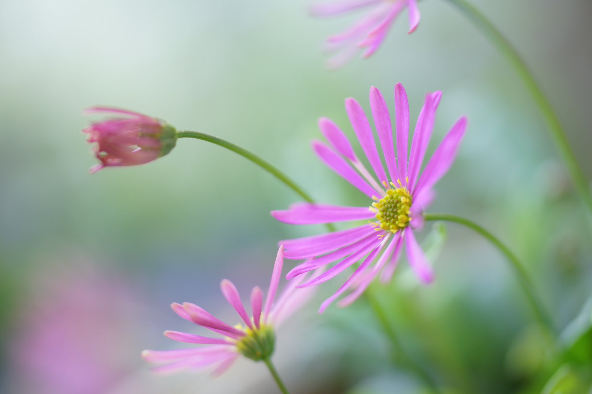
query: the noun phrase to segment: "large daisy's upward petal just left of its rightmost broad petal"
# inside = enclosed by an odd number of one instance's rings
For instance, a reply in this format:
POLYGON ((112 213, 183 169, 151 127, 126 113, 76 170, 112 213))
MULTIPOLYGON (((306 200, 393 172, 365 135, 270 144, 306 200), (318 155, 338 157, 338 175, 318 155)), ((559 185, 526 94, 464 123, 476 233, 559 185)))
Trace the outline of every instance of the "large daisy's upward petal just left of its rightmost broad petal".
POLYGON ((434 121, 436 119, 436 105, 434 96, 426 95, 426 101, 417 118, 413 141, 411 141, 411 153, 409 154, 409 182, 408 188, 413 190, 419 171, 422 168, 423 157, 426 154, 427 145, 430 143, 434 121))

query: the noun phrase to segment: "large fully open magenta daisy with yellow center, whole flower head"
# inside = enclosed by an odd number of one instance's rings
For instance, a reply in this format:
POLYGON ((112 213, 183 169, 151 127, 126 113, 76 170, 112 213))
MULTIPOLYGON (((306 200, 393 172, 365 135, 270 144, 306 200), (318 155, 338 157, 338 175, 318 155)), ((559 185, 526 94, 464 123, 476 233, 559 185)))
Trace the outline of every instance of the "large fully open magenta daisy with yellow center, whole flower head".
POLYGON ((327 118, 318 121, 318 127, 330 146, 313 141, 314 152, 330 169, 371 199, 368 202, 369 206, 360 208, 295 204, 288 211, 272 212, 276 219, 288 224, 322 224, 359 219, 370 221, 370 224, 348 230, 281 241, 286 248, 287 259, 307 259, 288 273, 288 279, 339 261, 301 287, 326 282, 356 262, 362 261, 343 286, 321 305, 320 312, 343 292, 357 286, 339 302, 339 306, 346 306, 355 301, 378 273, 381 273, 382 281, 390 281, 403 244, 406 246, 407 259, 417 276, 426 283, 433 280, 432 269, 417 243, 413 230, 422 225, 423 209, 434 197, 432 188, 452 166, 466 129, 466 118, 462 117, 446 134, 420 176, 441 95, 441 92, 435 92, 426 96, 407 160, 409 108, 405 89, 400 83, 395 86, 395 154, 387 104, 381 92, 374 86, 371 88, 372 115, 387 164, 387 172, 382 166, 366 114, 355 99, 346 99, 345 107, 349 120, 378 181, 358 159, 343 131, 327 118))

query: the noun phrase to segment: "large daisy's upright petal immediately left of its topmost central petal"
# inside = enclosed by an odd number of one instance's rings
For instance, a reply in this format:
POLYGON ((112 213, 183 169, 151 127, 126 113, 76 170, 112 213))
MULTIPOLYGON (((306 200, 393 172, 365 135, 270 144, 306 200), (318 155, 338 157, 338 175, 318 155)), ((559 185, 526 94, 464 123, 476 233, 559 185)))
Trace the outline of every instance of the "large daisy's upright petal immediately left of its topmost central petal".
POLYGON ((384 153, 384 161, 387 163, 391 181, 396 183, 399 175, 395 157, 395 144, 392 140, 391 115, 388 113, 388 106, 384 101, 384 97, 382 97, 382 93, 374 86, 370 88, 370 106, 374 117, 374 125, 378 132, 378 139, 382 146, 382 153, 384 153))

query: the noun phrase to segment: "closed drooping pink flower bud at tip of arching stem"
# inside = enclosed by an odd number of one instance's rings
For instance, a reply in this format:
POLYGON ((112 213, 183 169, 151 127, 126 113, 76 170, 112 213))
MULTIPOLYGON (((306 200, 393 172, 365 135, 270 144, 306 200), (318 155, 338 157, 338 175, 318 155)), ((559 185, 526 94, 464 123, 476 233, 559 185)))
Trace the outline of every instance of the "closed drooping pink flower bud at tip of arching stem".
POLYGON ((125 109, 94 107, 87 114, 111 115, 83 130, 88 142, 96 143, 94 153, 101 162, 92 167, 136 166, 156 160, 169 153, 176 144, 176 130, 156 118, 125 109))

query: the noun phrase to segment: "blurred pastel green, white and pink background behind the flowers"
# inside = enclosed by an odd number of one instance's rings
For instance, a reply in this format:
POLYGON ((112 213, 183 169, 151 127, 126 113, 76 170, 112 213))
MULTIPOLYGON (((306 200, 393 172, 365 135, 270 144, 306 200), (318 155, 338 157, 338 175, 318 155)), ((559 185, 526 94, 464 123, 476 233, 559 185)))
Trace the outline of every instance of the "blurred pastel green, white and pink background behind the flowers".
MULTIPOLYGON (((473 2, 535 70, 592 178, 591 2, 473 2)), ((245 294, 266 287, 276 242, 321 228, 274 221, 269 211, 297 196, 200 141, 181 140, 146 166, 89 175, 82 109, 96 104, 227 138, 319 201, 354 204, 364 196, 310 151, 317 118, 352 135, 346 97, 369 109, 375 85, 392 105, 402 82, 416 117, 424 93, 441 89, 431 147, 459 115, 470 127, 432 211, 464 215, 507 241, 561 328, 580 313, 592 285, 590 221, 537 108, 490 43, 446 1, 426 0, 415 34, 406 34, 404 14, 372 59, 327 72, 321 41, 355 16, 316 20, 306 5, 0 2, 0 392, 276 392, 259 364, 241 361, 220 379, 155 376, 140 351, 176 346, 164 330, 193 330, 170 302, 236 319, 220 279, 245 294)), ((465 228, 440 230, 431 238, 437 248, 446 230, 441 253, 430 249, 439 254, 434 285, 417 285, 401 264, 393 286, 380 290, 406 347, 456 392, 529 392, 542 339, 506 262, 465 228)), ((327 283, 319 297, 337 286, 327 283)), ((276 361, 292 393, 417 392, 390 366, 363 300, 321 317, 318 303, 279 334, 276 361)))

